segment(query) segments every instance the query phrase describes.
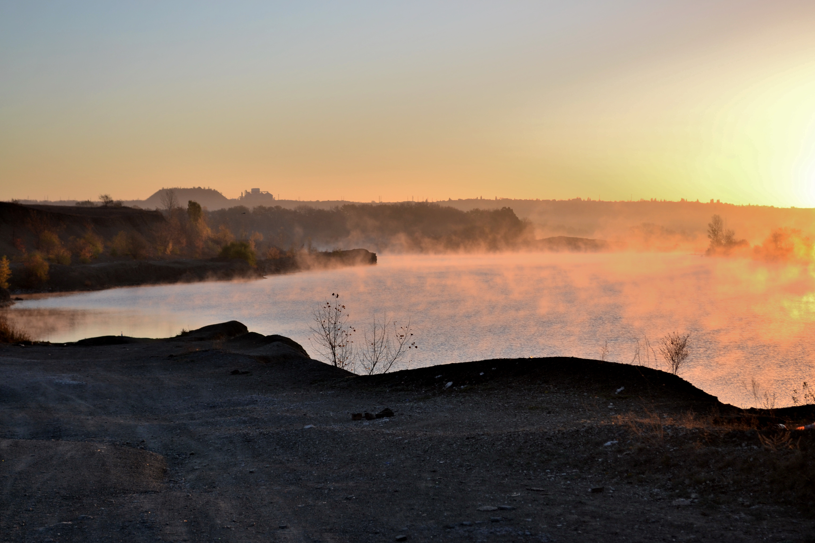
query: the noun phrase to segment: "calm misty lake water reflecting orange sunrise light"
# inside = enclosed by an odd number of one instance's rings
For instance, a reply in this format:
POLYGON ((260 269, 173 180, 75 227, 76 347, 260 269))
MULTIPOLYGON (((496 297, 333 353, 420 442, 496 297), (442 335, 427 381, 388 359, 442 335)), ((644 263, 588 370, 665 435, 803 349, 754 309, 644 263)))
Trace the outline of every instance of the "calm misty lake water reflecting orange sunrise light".
MULTIPOLYGON (((685 379, 722 401, 756 404, 751 380, 791 403, 815 380, 815 272, 693 255, 381 256, 372 267, 26 300, 7 311, 40 339, 166 337, 231 319, 288 335, 310 353, 311 311, 340 292, 361 330, 372 313, 412 320, 411 366, 493 357, 630 362, 637 339, 691 334, 685 379)), ((652 356, 653 358, 653 356, 652 356)))

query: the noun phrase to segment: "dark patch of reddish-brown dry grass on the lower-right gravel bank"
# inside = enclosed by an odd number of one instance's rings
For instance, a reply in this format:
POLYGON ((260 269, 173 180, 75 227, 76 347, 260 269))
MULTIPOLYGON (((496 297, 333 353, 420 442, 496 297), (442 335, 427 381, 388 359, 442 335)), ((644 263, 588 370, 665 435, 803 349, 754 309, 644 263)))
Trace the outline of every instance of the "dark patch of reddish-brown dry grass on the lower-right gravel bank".
POLYGON ((772 496, 815 516, 815 431, 785 430, 747 413, 667 417, 654 409, 619 415, 616 423, 634 453, 619 467, 654 482, 667 468, 677 496, 698 493, 713 504, 772 496))

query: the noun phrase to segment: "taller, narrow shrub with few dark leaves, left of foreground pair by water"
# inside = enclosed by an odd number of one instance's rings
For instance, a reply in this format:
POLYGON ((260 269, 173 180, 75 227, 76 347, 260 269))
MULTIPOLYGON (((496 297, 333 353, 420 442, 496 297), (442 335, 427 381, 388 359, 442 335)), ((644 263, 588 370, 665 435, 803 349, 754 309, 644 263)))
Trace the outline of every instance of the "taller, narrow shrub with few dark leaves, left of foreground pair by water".
POLYGON ((326 300, 312 313, 313 324, 309 341, 317 353, 329 364, 343 370, 354 370, 354 328, 348 324, 346 306, 339 301, 340 295, 332 292, 333 300, 326 300))

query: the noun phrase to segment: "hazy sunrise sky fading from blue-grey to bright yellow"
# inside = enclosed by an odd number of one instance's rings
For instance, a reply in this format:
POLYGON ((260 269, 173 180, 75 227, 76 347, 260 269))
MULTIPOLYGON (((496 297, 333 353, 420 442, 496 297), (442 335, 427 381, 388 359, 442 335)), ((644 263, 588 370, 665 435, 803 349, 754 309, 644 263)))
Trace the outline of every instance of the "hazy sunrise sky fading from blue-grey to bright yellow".
POLYGON ((815 2, 0 1, 0 199, 815 207, 815 2))

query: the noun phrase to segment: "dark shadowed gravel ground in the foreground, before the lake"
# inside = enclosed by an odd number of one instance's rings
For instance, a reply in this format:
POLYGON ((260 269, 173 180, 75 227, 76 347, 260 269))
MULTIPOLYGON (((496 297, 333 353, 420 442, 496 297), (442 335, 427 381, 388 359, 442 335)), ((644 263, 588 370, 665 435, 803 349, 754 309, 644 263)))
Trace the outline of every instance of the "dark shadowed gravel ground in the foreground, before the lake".
POLYGON ((0 541, 813 541, 808 434, 654 370, 101 343, 0 348, 0 541))

